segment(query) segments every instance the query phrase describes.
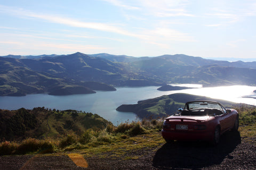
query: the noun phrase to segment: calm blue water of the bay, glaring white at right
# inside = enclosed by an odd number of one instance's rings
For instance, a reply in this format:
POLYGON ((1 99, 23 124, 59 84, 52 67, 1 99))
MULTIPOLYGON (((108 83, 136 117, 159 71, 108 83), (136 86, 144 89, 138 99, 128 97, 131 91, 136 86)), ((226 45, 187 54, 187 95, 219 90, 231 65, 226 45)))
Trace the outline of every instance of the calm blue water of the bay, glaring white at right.
MULTIPOLYGON (((189 86, 189 84, 187 84, 189 86)), ((191 86, 191 85, 190 85, 191 86)), ((34 107, 55 108, 61 111, 75 109, 77 111, 98 114, 106 120, 117 125, 125 121, 137 120, 134 113, 118 112, 116 108, 122 104, 136 104, 139 100, 155 98, 162 95, 186 92, 188 94, 220 98, 237 103, 256 105, 256 99, 243 98, 243 96, 256 96, 251 86, 230 86, 215 88, 198 88, 177 91, 158 91, 159 87, 116 88, 116 91, 97 91, 96 94, 50 96, 47 94, 27 95, 22 97, 0 97, 1 109, 19 109, 21 107, 33 109, 34 107)))

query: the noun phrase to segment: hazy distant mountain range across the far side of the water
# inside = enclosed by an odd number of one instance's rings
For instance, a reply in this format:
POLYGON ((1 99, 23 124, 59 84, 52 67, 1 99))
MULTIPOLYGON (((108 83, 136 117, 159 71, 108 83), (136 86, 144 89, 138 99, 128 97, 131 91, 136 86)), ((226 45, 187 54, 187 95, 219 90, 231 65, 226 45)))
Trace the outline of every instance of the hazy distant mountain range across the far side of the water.
POLYGON ((114 86, 256 84, 256 62, 206 60, 183 54, 158 57, 75 53, 0 57, 0 95, 71 95, 114 86))

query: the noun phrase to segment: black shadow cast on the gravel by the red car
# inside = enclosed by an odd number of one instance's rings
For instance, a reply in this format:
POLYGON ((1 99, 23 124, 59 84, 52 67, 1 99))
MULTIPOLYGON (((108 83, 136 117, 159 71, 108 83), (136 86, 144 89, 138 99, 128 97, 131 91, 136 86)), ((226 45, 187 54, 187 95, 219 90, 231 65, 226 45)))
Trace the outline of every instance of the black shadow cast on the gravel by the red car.
POLYGON ((239 132, 227 132, 221 136, 218 146, 206 142, 165 143, 157 150, 153 166, 159 169, 200 169, 214 164, 221 164, 223 159, 241 143, 239 132))

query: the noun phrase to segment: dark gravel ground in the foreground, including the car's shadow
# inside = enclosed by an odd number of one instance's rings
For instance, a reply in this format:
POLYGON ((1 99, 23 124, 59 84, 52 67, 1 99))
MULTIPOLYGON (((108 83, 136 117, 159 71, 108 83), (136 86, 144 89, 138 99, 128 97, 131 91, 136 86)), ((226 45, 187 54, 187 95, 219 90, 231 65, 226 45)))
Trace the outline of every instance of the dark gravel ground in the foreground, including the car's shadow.
POLYGON ((163 143, 157 148, 132 150, 122 157, 85 157, 87 168, 66 155, 0 157, 0 169, 256 169, 255 138, 228 132, 218 146, 205 142, 163 143))

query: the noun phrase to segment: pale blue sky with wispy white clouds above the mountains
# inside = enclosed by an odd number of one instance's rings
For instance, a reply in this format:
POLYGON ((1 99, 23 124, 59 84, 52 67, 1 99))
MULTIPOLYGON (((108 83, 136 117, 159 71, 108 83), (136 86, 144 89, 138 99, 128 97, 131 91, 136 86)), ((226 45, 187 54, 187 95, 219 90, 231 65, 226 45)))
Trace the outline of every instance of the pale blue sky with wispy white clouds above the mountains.
POLYGON ((186 54, 256 61, 256 0, 0 0, 0 56, 186 54))

